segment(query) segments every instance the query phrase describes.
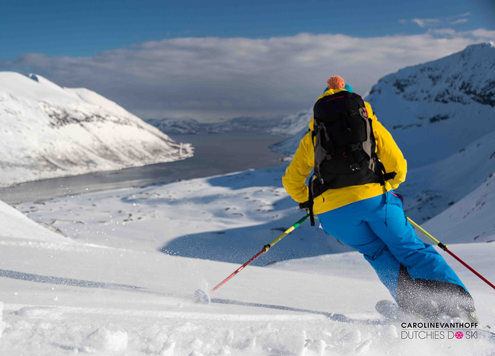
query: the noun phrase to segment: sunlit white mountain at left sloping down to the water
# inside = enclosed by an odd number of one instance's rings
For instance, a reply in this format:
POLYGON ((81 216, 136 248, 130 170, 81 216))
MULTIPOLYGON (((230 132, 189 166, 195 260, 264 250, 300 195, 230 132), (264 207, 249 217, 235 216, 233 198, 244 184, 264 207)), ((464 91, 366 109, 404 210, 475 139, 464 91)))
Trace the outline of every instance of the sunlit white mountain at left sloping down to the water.
POLYGON ((184 159, 172 140, 88 89, 0 72, 0 186, 184 159))

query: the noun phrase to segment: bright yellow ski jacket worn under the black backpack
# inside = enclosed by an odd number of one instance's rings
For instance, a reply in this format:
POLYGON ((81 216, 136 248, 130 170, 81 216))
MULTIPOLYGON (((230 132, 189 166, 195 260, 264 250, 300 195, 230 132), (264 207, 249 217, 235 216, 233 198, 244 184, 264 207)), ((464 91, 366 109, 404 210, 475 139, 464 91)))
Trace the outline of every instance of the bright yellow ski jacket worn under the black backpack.
MULTIPOLYGON (((329 89, 318 99, 341 92, 344 89, 329 89)), ((388 180, 385 186, 380 183, 368 183, 338 189, 329 189, 314 199, 313 213, 319 214, 338 207, 358 202, 360 200, 373 198, 396 189, 405 180, 407 162, 397 147, 396 142, 387 129, 378 121, 371 109, 371 105, 365 102, 368 116, 373 120, 373 133, 376 139, 376 153, 382 161, 387 172, 396 172, 394 179, 388 180)), ((308 200, 308 187, 305 182, 314 168, 314 142, 312 142, 311 131, 313 131, 313 119, 309 122, 309 132, 301 140, 296 154, 287 167, 282 184, 289 195, 298 203, 308 200)))

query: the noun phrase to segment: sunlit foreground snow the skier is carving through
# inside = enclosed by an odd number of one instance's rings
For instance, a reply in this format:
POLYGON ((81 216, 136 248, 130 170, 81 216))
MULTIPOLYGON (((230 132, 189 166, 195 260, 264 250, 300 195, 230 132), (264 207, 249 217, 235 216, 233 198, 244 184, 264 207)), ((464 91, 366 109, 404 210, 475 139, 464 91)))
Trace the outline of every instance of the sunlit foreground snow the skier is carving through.
MULTIPOLYGON (((12 222, 20 225, 20 221, 12 222)), ((15 239, 9 240, 15 242, 15 239)), ((483 340, 477 340, 475 347, 467 343, 453 344, 453 341, 419 344, 399 339, 394 325, 349 324, 319 314, 274 309, 269 305, 253 306, 255 303, 310 306, 315 311, 347 312, 348 316, 364 320, 376 318, 372 311, 374 300, 364 296, 373 291, 374 298, 382 298, 386 291, 373 278, 355 280, 345 273, 340 273, 340 277, 313 271, 301 273, 284 270, 283 265, 247 267, 243 275, 223 286, 223 290, 219 289, 215 297, 250 302, 251 306, 196 305, 188 296, 201 281, 218 282, 237 265, 71 241, 62 245, 65 245, 64 251, 15 244, 2 250, 3 270, 19 269, 18 261, 25 260, 24 273, 60 278, 58 283, 50 280, 36 283, 26 275, 19 279, 12 275, 4 278, 0 298, 6 303, 7 327, 1 337, 0 351, 5 355, 77 352, 241 356, 368 352, 383 355, 386 351, 416 355, 420 350, 423 355, 434 352, 471 355, 494 352, 493 344, 483 340), (68 263, 70 269, 66 268, 68 263), (167 270, 174 273, 163 273, 167 270), (75 276, 83 279, 76 280, 75 276), (85 281, 95 285, 85 285, 85 281), (103 282, 106 285, 97 287, 103 282), (54 295, 59 296, 57 301, 53 300, 54 295), (455 349, 451 349, 454 345, 455 349)), ((355 253, 349 257, 356 263, 363 261, 355 253)), ((300 260, 295 262, 301 263, 300 260)), ((290 261, 284 263, 291 264, 290 261)), ((330 258, 326 261, 326 270, 332 272, 339 263, 330 258)), ((306 268, 312 264, 311 258, 304 261, 306 268)), ((490 272, 489 267, 482 269, 490 272)), ((483 300, 485 292, 483 286, 477 288, 475 298, 483 300)), ((486 306, 490 306, 490 295, 487 295, 486 306)), ((480 309, 486 313, 486 307, 480 309)), ((494 311, 489 315, 493 316, 494 311)))

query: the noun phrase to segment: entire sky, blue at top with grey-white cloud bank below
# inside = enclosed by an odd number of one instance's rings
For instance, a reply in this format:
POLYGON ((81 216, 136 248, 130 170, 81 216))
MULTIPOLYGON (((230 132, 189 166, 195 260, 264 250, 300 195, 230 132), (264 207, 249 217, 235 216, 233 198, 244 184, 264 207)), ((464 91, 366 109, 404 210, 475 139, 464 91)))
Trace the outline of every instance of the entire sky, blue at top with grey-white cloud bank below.
POLYGON ((146 117, 285 114, 310 105, 317 76, 349 76, 355 62, 350 79, 366 91, 403 66, 495 40, 494 19, 492 0, 9 1, 0 68, 88 87, 146 117), (390 55, 368 63, 353 51, 390 55), (206 99, 181 101, 191 93, 206 99))

